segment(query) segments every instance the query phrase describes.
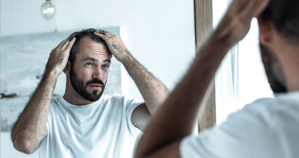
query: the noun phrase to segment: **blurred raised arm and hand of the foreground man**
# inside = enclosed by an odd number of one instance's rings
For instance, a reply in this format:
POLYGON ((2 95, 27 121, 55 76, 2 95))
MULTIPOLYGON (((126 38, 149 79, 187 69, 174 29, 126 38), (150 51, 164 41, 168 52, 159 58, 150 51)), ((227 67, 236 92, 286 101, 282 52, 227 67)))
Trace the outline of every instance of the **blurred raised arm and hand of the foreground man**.
POLYGON ((269 0, 234 0, 213 32, 199 50, 193 65, 176 89, 157 111, 138 145, 136 158, 179 158, 181 139, 190 135, 211 79, 226 52, 245 37, 251 19, 267 6, 269 0))

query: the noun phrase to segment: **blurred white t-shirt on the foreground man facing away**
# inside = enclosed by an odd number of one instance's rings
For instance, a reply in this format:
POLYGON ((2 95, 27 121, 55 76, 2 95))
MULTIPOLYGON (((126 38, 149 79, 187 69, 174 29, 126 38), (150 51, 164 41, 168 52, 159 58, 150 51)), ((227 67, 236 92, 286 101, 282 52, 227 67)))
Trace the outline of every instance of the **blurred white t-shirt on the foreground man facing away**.
POLYGON ((185 137, 182 158, 299 157, 299 92, 260 99, 218 128, 185 137))

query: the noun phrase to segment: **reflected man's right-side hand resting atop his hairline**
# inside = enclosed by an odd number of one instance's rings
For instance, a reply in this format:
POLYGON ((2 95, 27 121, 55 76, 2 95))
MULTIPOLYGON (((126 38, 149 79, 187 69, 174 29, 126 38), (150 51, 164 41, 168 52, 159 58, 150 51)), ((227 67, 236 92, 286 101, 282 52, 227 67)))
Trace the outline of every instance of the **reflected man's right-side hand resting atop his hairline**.
POLYGON ((94 34, 102 38, 116 60, 123 63, 123 59, 129 55, 129 51, 125 44, 123 44, 123 40, 117 35, 113 35, 112 33, 106 31, 96 31, 94 34))

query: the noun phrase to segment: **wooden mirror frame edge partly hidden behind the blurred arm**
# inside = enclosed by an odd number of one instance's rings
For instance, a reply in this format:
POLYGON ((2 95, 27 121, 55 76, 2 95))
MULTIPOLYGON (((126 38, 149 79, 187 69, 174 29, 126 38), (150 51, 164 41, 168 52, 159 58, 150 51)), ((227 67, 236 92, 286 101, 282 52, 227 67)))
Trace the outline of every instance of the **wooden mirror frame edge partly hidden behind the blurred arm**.
MULTIPOLYGON (((213 31, 212 0, 194 0, 196 50, 213 31)), ((199 113, 199 131, 216 123, 215 83, 212 80, 199 113)))

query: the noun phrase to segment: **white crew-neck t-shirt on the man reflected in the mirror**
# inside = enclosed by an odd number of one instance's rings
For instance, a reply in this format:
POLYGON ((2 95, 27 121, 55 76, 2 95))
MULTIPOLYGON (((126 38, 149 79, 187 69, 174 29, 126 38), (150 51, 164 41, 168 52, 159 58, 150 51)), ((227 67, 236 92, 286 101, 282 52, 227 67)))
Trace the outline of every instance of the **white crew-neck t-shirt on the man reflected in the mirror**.
POLYGON ((119 94, 83 106, 52 98, 39 158, 132 157, 141 130, 132 125, 131 114, 142 103, 119 94))

